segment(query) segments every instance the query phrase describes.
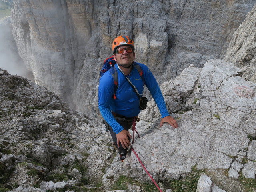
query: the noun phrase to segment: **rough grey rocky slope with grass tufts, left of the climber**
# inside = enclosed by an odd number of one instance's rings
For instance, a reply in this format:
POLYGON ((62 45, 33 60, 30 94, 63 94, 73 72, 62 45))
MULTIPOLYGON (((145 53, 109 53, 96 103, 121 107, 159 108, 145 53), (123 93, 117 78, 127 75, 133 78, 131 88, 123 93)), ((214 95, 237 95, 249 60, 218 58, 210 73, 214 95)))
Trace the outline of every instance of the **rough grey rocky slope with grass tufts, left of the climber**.
POLYGON ((85 178, 100 180, 114 150, 101 121, 92 119, 47 88, 0 68, 1 186, 67 191, 85 178))

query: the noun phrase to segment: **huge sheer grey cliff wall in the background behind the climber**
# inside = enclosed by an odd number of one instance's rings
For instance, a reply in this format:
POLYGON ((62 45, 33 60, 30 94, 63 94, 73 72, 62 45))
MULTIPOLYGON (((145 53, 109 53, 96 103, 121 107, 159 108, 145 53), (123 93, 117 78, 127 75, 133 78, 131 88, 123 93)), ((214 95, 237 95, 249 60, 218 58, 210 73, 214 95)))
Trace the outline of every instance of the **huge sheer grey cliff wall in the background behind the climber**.
POLYGON ((134 39, 136 61, 162 83, 191 63, 222 58, 256 0, 13 2, 14 39, 35 82, 96 115, 98 72, 116 36, 134 39))

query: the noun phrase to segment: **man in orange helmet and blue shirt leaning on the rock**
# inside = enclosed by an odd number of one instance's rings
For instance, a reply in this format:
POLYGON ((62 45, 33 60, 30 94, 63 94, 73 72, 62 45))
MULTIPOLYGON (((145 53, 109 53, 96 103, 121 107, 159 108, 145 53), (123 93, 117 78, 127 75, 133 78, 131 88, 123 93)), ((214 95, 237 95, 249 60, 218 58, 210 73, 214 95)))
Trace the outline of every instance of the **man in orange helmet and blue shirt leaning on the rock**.
POLYGON ((146 85, 160 110, 162 118, 160 126, 166 122, 173 128, 178 128, 178 124, 169 115, 158 83, 148 67, 136 63, 143 72, 143 78, 140 77, 138 70, 134 67, 133 40, 128 36, 118 36, 112 43, 112 51, 116 61, 114 67, 118 75, 118 89, 114 92, 114 80, 110 72, 107 71, 100 78, 98 107, 108 124, 114 144, 119 151, 120 159, 123 161, 126 158, 127 149, 132 138, 128 129, 131 128, 134 117, 139 120, 138 114, 140 113, 138 95, 134 92, 126 77, 136 87, 140 95, 142 95, 144 84, 146 85), (144 82, 142 79, 144 79, 144 82), (113 95, 115 95, 114 98, 113 95))

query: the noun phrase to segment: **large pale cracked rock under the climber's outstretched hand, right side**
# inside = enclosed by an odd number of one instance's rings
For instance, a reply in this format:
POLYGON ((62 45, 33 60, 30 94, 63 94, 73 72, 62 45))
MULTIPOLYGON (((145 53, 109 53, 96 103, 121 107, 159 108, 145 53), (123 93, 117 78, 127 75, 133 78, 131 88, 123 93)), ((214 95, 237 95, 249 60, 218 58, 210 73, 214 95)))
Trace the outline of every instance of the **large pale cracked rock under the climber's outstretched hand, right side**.
MULTIPOLYGON (((256 84, 239 74, 233 63, 208 60, 202 69, 186 68, 160 86, 169 112, 176 111, 172 116, 179 128, 159 127, 160 114, 151 112, 157 108, 150 101, 140 118, 151 123, 137 123, 140 139, 136 137, 133 144, 154 180, 178 180, 193 166, 228 169, 232 178, 242 170, 246 178, 255 178, 255 140, 249 138, 256 136, 256 84)), ((119 174, 150 180, 133 152, 122 164, 113 162, 104 182, 119 174)))

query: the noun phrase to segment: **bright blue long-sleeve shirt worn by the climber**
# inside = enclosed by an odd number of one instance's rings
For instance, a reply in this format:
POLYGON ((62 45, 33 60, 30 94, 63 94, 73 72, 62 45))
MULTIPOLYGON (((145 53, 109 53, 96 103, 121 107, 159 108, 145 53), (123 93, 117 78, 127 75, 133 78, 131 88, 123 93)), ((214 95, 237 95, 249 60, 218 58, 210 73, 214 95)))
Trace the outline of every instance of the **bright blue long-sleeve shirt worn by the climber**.
MULTIPOLYGON (((158 109, 160 110, 161 117, 163 118, 168 116, 169 113, 166 109, 164 98, 152 72, 146 65, 141 63, 137 64, 143 72, 145 85, 154 98, 158 109)), ((125 117, 134 117, 138 116, 140 108, 138 96, 132 89, 132 86, 128 83, 124 74, 118 70, 118 66, 114 65, 114 67, 118 73, 118 89, 115 93, 116 99, 113 98, 114 80, 110 72, 107 71, 102 77, 100 77, 98 87, 98 107, 104 120, 106 120, 106 122, 112 127, 113 131, 118 134, 123 130, 123 127, 114 119, 111 111, 125 117)), ((134 66, 132 66, 132 70, 127 77, 136 87, 139 94, 142 94, 144 83, 134 66)))

